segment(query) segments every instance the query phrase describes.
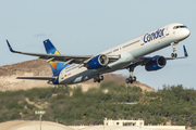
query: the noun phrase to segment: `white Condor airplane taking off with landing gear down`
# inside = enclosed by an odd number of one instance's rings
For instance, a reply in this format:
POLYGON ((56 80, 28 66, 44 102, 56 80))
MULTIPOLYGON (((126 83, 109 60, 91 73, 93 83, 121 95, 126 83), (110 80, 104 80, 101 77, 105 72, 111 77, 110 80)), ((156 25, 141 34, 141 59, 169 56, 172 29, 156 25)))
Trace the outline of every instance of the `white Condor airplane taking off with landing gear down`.
POLYGON ((130 77, 126 83, 136 81, 133 76, 134 68, 145 66, 147 72, 159 70, 167 65, 167 61, 186 58, 188 56, 185 46, 184 56, 177 57, 175 47, 189 36, 188 28, 181 23, 172 23, 136 37, 117 47, 95 55, 61 55, 49 39, 44 41, 47 54, 14 51, 7 40, 11 52, 38 56, 50 63, 53 76, 17 77, 17 79, 48 80, 52 84, 74 84, 94 78, 94 82, 103 80, 103 74, 119 69, 128 69, 130 77), (172 46, 171 57, 161 55, 145 56, 149 53, 172 46))

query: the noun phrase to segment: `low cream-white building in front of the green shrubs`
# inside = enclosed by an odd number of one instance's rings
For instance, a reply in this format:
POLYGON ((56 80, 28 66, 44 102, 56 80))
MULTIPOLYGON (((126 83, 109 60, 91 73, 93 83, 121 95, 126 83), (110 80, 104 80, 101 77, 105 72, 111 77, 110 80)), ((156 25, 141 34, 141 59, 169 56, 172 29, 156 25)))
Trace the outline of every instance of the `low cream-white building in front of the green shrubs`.
POLYGON ((144 127, 144 120, 124 120, 124 119, 119 119, 119 120, 112 120, 112 119, 107 119, 105 118, 103 120, 105 126, 133 126, 133 127, 144 127))

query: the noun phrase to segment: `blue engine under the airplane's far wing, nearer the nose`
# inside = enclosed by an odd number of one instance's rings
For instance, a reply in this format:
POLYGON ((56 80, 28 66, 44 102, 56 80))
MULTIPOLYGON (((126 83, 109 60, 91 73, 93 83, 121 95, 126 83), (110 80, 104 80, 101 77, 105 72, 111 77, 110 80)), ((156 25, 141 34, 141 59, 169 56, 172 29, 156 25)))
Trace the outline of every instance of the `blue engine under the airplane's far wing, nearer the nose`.
POLYGON ((167 60, 163 56, 156 55, 145 65, 145 68, 147 72, 158 70, 163 68, 166 64, 167 60))

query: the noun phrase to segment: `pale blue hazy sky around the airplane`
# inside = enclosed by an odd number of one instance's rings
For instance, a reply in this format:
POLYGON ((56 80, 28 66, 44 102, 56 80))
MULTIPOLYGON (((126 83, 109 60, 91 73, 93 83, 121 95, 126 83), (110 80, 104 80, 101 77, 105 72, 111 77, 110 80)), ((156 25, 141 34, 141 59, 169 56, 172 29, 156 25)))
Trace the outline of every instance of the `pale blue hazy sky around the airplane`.
MULTIPOLYGON (((13 54, 7 47, 45 53, 42 41, 50 39, 62 54, 93 55, 170 23, 183 23, 191 36, 177 46, 179 56, 186 46, 189 57, 169 61, 163 69, 148 73, 136 67, 137 80, 155 89, 183 84, 196 89, 196 1, 195 0, 1 0, 0 66, 34 60, 13 54)), ((172 47, 152 53, 170 56, 172 47)), ((115 72, 128 77, 128 70, 115 72)))

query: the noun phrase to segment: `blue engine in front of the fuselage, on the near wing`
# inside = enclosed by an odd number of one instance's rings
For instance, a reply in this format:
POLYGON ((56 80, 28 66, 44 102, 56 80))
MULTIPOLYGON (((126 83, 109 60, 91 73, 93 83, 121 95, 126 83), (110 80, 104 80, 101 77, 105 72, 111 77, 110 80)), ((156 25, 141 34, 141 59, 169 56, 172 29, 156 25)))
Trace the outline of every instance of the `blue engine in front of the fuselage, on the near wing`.
POLYGON ((106 66, 108 64, 109 60, 107 57, 107 55, 105 54, 99 54, 95 57, 93 57, 88 64, 87 64, 87 68, 88 69, 95 69, 95 68, 99 68, 102 66, 106 66))

